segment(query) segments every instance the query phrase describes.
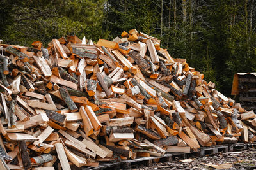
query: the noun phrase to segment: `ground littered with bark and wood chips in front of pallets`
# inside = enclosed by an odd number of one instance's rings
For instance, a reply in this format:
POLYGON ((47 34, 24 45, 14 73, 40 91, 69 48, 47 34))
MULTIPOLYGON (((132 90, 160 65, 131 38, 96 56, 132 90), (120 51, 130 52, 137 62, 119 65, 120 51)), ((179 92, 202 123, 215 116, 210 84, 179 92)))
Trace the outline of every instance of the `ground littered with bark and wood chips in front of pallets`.
POLYGON ((256 149, 227 152, 205 157, 175 159, 172 162, 153 163, 150 167, 132 166, 131 169, 256 169, 256 149))

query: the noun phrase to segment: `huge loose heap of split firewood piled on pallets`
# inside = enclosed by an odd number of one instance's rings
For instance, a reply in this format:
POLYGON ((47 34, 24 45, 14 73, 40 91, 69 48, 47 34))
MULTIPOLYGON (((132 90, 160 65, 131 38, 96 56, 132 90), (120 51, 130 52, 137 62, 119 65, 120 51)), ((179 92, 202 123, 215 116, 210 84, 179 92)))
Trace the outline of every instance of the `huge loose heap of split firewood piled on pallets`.
POLYGON ((256 118, 160 40, 0 45, 0 169, 76 169, 255 140, 256 118))

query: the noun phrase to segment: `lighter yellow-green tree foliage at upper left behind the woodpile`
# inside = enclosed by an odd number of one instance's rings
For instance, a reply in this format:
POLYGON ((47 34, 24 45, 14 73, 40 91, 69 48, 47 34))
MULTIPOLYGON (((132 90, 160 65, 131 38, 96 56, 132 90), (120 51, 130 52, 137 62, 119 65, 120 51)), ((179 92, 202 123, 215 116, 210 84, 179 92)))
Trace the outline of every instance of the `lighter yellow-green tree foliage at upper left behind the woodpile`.
POLYGON ((102 29, 105 2, 4 0, 0 6, 3 16, 0 38, 27 46, 38 39, 48 43, 67 34, 95 41, 106 38, 109 31, 102 29))

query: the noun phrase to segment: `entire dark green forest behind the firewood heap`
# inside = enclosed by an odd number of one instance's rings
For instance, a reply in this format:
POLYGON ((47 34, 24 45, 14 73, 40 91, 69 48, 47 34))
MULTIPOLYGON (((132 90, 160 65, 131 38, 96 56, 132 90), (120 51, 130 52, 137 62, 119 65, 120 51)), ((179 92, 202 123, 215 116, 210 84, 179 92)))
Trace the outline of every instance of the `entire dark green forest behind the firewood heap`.
POLYGON ((230 96, 234 73, 256 71, 255 9, 254 0, 1 0, 0 39, 47 45, 76 34, 97 42, 136 28, 230 96))

